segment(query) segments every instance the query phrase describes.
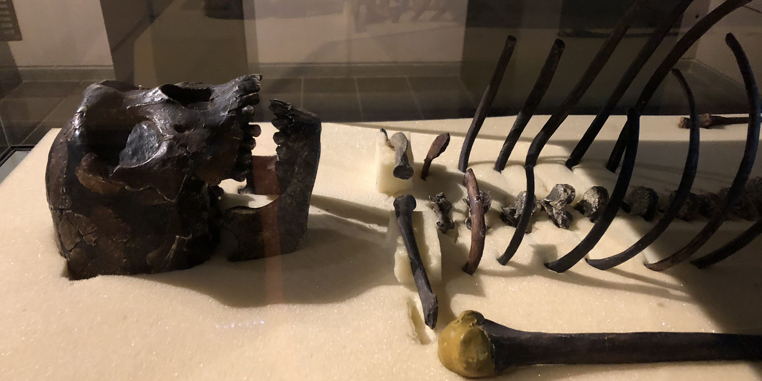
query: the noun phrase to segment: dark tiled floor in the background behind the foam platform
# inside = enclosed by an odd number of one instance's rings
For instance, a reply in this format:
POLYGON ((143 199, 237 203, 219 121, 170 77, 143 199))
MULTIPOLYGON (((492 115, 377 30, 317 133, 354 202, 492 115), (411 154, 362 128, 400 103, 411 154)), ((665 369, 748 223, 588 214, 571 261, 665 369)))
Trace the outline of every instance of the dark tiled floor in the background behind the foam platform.
MULTIPOLYGON (((728 107, 742 104, 736 98, 743 94, 734 97, 734 94, 717 90, 717 86, 701 82, 701 78, 691 72, 686 72, 686 76, 695 84, 697 104, 728 104, 728 107)), ((664 88, 668 91, 646 114, 685 112, 684 96, 671 81, 671 78, 665 81, 664 88)), ((36 144, 50 129, 66 124, 82 101, 82 91, 91 83, 22 83, 0 100, 0 120, 5 127, 3 137, 7 136, 11 145, 36 144)), ((274 98, 304 107, 325 122, 469 118, 481 98, 475 91, 467 90, 463 78, 456 76, 265 79, 255 118, 259 121, 273 119, 267 105, 274 98)), ((511 106, 517 108, 520 104, 511 106)), ((496 101, 490 115, 507 115, 511 110, 496 101)), ((731 108, 720 107, 718 110, 732 112, 731 108)), ((552 110, 538 110, 538 114, 550 112, 552 110)))

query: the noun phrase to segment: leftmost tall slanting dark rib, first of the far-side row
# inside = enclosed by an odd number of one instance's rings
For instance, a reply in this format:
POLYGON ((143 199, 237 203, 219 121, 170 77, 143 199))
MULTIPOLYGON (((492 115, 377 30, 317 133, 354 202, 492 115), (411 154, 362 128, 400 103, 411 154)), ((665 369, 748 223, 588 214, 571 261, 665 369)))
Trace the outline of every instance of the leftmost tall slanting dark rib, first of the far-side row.
POLYGON ((479 135, 479 130, 482 129, 489 107, 492 105, 492 101, 495 101, 495 96, 498 94, 498 88, 500 88, 500 82, 503 81, 503 75, 505 69, 508 67, 508 62, 511 61, 511 56, 514 54, 514 47, 516 46, 516 37, 508 36, 505 39, 505 45, 503 51, 500 53, 498 59, 498 65, 495 66, 495 72, 492 72, 492 78, 489 80, 487 88, 482 94, 482 100, 479 101, 479 106, 476 107, 476 114, 474 114, 473 120, 471 120, 471 126, 466 133, 466 139, 463 140, 463 147, 460 149, 460 158, 458 161, 458 169, 461 172, 466 172, 469 168, 469 156, 471 155, 471 147, 474 145, 476 135, 479 135))

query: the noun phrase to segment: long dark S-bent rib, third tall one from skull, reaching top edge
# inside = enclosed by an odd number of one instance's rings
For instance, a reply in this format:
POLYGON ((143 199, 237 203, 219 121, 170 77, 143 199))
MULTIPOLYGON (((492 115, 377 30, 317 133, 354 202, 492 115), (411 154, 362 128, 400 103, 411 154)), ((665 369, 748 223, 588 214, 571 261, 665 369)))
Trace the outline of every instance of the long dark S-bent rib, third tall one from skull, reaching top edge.
POLYGON ((524 171, 527 174, 527 202, 524 204, 524 210, 521 213, 521 217, 517 223, 516 231, 514 232, 513 238, 511 238, 511 242, 508 244, 503 255, 498 258, 498 261, 501 264, 506 264, 511 260, 514 254, 516 254, 516 251, 523 240, 524 232, 527 231, 527 226, 529 226, 530 217, 532 216, 532 208, 535 206, 534 166, 537 164, 539 152, 548 142, 550 136, 555 133, 555 130, 558 130, 561 123, 563 123, 566 117, 571 114, 571 107, 574 107, 582 98, 582 95, 588 91, 588 88, 590 88, 590 85, 592 85, 600 70, 606 65, 606 62, 609 60, 616 45, 622 40, 622 37, 624 37, 629 25, 632 24, 632 21, 635 21, 640 9, 646 2, 648 2, 648 0, 636 0, 635 2, 632 2, 632 5, 630 5, 622 18, 622 21, 616 25, 610 36, 604 41, 604 44, 600 46, 598 53, 595 54, 590 65, 588 65, 588 69, 585 69, 581 78, 579 78, 577 85, 571 90, 561 106, 556 109, 555 113, 550 116, 545 123, 545 126, 543 126, 543 129, 534 137, 532 144, 527 151, 527 159, 524 162, 524 171))

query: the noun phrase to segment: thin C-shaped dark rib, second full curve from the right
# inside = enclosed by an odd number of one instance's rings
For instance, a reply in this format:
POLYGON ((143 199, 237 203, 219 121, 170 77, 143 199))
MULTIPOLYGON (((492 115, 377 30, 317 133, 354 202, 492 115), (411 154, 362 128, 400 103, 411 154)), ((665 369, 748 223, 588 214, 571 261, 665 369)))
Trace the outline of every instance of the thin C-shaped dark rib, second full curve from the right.
POLYGON ((683 206, 685 200, 690 195, 690 187, 693 186, 693 179, 696 178, 696 168, 699 166, 699 120, 696 113, 696 101, 693 98, 693 91, 690 91, 690 86, 686 82, 683 73, 680 70, 672 69, 672 73, 677 77, 677 81, 680 82, 680 87, 685 91, 685 96, 688 98, 688 106, 690 107, 690 139, 688 140, 688 155, 685 158, 685 167, 683 169, 683 177, 680 178, 680 185, 677 186, 677 191, 674 194, 674 199, 670 203, 664 216, 659 219, 659 222, 654 225, 651 230, 648 230, 645 235, 638 242, 635 242, 625 251, 620 252, 617 255, 612 255, 603 259, 587 259, 588 264, 598 270, 608 270, 611 267, 619 266, 626 261, 629 261, 632 257, 638 255, 648 245, 651 245, 656 239, 659 238, 661 233, 667 229, 670 223, 677 217, 677 213, 680 213, 680 207, 683 206))

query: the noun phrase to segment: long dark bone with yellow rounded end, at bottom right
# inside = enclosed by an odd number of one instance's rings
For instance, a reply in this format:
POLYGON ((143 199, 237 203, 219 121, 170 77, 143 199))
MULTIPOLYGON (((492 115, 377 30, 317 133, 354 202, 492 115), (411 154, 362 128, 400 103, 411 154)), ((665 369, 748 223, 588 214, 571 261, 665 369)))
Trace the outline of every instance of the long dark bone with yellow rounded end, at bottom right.
POLYGON ((466 377, 530 365, 762 360, 762 335, 709 332, 519 331, 464 311, 439 336, 439 359, 466 377))

